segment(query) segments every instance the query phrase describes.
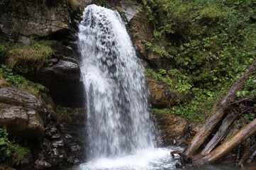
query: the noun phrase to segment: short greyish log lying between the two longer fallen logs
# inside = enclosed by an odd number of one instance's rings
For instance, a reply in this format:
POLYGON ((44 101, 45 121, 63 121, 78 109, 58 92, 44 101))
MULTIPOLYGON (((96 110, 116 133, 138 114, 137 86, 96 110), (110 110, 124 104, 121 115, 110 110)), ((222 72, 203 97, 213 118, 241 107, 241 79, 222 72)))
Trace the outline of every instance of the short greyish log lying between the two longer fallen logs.
POLYGON ((202 156, 210 153, 214 149, 214 147, 218 145, 218 142, 220 142, 221 139, 223 139, 223 136, 228 131, 228 127, 231 125, 231 123, 233 123, 235 118, 236 118, 236 115, 233 113, 227 115, 227 117, 223 120, 221 127, 218 129, 218 132, 216 132, 216 134, 211 139, 211 141, 208 142, 206 147, 204 147, 204 149, 200 152, 202 156))

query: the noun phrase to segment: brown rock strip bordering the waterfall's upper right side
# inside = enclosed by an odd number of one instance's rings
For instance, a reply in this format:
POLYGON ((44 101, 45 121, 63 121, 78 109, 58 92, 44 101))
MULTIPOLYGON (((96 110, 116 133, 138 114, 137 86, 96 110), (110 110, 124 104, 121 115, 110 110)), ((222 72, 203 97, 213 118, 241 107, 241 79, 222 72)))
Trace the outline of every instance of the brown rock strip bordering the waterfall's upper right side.
MULTIPOLYGON (((125 13, 128 20, 128 27, 131 30, 131 40, 138 55, 144 60, 147 60, 153 67, 162 69, 172 69, 174 62, 166 57, 160 57, 155 52, 150 52, 145 47, 143 40, 150 42, 153 38, 153 26, 149 22, 148 16, 144 11, 138 10, 139 5, 133 1, 128 3, 127 1, 121 1, 121 7, 123 13, 125 13)), ((161 40, 159 46, 162 50, 165 50, 165 40, 161 40)))

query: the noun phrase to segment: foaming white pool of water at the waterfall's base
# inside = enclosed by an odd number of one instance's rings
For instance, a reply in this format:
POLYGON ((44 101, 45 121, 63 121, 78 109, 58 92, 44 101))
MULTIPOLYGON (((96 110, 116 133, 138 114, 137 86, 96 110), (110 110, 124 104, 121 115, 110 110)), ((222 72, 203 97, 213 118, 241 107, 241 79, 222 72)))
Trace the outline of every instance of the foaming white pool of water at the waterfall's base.
MULTIPOLYGON (((182 148, 175 147, 175 150, 182 148)), ((171 170, 176 169, 178 157, 172 159, 174 148, 143 149, 133 154, 116 158, 94 159, 73 170, 171 170)))

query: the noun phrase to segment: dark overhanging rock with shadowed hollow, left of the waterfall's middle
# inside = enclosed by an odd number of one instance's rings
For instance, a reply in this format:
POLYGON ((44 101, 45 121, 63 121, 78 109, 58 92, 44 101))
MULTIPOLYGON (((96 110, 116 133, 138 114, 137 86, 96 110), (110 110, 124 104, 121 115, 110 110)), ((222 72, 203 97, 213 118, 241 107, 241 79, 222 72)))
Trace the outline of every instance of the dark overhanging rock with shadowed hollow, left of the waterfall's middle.
POLYGON ((33 81, 43 84, 49 89, 55 103, 62 106, 84 106, 84 85, 81 81, 77 53, 69 45, 55 42, 51 45, 55 50, 47 67, 39 72, 32 72, 33 81))

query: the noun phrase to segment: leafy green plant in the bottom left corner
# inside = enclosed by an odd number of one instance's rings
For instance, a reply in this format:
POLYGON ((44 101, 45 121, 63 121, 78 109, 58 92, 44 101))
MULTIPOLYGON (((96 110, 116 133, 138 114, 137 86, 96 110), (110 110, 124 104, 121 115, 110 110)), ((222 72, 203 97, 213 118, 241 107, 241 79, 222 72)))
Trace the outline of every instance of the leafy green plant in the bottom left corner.
POLYGON ((10 141, 5 128, 0 128, 0 164, 7 163, 11 166, 28 163, 30 149, 10 141))

